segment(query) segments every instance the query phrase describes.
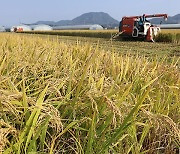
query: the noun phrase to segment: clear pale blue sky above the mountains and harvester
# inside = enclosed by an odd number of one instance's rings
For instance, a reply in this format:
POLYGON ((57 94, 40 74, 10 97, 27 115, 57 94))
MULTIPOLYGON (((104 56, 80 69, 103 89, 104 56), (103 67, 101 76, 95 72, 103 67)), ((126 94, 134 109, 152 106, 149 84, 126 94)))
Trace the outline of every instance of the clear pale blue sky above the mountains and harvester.
POLYGON ((122 16, 180 13, 180 0, 1 0, 0 25, 71 20, 83 13, 105 12, 122 16))

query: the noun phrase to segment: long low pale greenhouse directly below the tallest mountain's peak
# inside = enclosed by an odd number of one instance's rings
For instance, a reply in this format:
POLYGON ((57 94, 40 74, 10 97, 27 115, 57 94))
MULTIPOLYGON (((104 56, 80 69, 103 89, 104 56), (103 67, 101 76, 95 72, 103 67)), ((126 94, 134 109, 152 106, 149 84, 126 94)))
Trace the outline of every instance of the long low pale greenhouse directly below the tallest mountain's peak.
POLYGON ((102 30, 101 25, 69 25, 69 26, 55 26, 53 30, 102 30))

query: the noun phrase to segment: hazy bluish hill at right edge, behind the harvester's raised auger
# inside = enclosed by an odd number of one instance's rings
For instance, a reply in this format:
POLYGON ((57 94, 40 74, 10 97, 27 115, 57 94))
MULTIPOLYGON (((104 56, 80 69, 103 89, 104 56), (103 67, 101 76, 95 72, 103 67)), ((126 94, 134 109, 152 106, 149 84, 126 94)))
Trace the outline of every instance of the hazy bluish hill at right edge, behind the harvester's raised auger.
POLYGON ((177 14, 175 16, 169 16, 167 21, 164 21, 162 18, 154 18, 151 19, 151 23, 153 24, 160 24, 162 21, 162 24, 179 24, 180 23, 180 14, 177 14))

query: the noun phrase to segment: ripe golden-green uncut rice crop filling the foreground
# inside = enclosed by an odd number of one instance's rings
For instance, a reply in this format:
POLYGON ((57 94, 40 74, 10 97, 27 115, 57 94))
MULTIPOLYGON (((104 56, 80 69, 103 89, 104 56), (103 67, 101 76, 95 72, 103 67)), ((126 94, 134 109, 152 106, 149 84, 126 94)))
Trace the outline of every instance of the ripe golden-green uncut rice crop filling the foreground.
POLYGON ((100 46, 0 34, 0 151, 179 152, 178 58, 100 46))

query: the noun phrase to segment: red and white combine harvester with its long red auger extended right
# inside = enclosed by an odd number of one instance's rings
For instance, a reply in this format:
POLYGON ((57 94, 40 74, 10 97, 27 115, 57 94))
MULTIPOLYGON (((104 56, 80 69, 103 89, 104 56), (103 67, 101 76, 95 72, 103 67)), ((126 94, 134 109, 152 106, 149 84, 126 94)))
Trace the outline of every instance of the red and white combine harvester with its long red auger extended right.
POLYGON ((112 39, 130 38, 143 39, 154 42, 154 37, 160 32, 160 27, 152 25, 147 18, 164 17, 167 20, 167 14, 153 14, 143 16, 123 17, 119 24, 119 33, 112 36, 112 39))

